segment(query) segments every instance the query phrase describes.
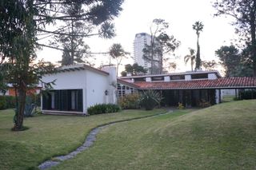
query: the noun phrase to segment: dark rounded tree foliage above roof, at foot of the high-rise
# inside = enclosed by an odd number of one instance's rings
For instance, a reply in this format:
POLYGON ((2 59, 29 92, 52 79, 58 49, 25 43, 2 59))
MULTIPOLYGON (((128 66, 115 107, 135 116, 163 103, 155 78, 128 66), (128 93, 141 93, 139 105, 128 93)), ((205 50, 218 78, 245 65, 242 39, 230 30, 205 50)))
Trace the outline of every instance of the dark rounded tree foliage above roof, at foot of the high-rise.
POLYGON ((132 76, 138 76, 146 72, 147 69, 144 69, 141 65, 138 65, 138 63, 134 63, 133 65, 125 65, 125 71, 122 71, 121 75, 122 77, 126 77, 127 73, 131 73, 132 76))

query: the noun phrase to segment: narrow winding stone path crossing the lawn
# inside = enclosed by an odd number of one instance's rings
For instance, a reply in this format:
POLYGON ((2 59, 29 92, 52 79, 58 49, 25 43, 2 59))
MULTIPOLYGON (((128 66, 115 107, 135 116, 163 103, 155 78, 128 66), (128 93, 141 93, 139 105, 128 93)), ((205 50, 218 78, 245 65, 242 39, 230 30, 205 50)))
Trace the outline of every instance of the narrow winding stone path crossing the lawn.
POLYGON ((169 110, 166 113, 158 113, 156 115, 150 115, 150 116, 146 116, 146 117, 136 117, 136 118, 132 118, 129 120, 114 121, 114 122, 107 123, 105 125, 99 125, 97 128, 93 128, 89 132, 89 135, 86 136, 86 140, 82 144, 82 146, 76 148, 73 152, 70 152, 65 156, 56 156, 56 157, 52 158, 51 160, 46 160, 45 162, 40 164, 38 166, 38 168, 45 170, 45 169, 51 168, 53 166, 56 166, 56 165, 62 163, 62 161, 64 161, 64 160, 70 160, 71 158, 74 158, 74 156, 77 156, 78 153, 86 150, 87 148, 90 148, 90 146, 92 144, 94 144, 94 141, 96 140, 96 136, 97 136, 98 132, 100 132, 102 130, 102 128, 106 128, 107 126, 114 125, 114 124, 121 123, 121 122, 135 121, 135 120, 145 119, 145 118, 149 118, 149 117, 158 117, 158 116, 165 115, 165 114, 172 113, 172 112, 173 112, 172 110, 169 110))

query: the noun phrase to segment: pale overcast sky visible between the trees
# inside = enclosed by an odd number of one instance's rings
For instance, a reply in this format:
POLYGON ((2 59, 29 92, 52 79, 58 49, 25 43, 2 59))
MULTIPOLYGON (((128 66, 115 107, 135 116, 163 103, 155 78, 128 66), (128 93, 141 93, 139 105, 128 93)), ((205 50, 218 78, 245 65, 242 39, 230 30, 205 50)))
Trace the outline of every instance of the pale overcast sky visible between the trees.
MULTIPOLYGON (((188 48, 196 49, 196 34, 192 25, 196 21, 204 24, 200 35, 202 60, 217 60, 214 51, 221 45, 230 45, 235 38, 234 26, 230 26, 231 18, 214 17, 215 10, 211 0, 125 0, 122 12, 114 19, 117 36, 111 40, 101 38, 86 39, 92 52, 106 52, 113 43, 121 43, 124 49, 134 52, 134 37, 138 33, 150 33, 150 24, 154 18, 165 19, 170 23, 168 34, 173 34, 181 45, 175 51, 180 57, 176 72, 190 69, 190 65, 183 65, 183 57, 189 53, 188 48)), ((45 61, 60 61, 62 52, 46 49, 38 52, 39 58, 45 61)), ((107 63, 108 56, 97 56, 96 66, 107 63)), ((132 64, 132 59, 122 64, 132 64)))

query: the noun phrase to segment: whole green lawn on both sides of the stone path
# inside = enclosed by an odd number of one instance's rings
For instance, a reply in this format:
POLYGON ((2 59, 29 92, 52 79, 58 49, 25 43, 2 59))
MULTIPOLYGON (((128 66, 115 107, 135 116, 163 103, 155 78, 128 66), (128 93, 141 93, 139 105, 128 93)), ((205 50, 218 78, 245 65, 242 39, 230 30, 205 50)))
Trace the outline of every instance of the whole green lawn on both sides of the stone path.
MULTIPOLYGON (((255 104, 255 100, 226 102, 110 125, 98 133, 90 149, 51 169, 254 169, 255 104)), ((10 132, 12 113, 0 113, 0 167, 35 168, 42 160, 82 144, 99 124, 162 110, 128 112, 32 117, 26 119, 30 129, 24 132, 10 132)))

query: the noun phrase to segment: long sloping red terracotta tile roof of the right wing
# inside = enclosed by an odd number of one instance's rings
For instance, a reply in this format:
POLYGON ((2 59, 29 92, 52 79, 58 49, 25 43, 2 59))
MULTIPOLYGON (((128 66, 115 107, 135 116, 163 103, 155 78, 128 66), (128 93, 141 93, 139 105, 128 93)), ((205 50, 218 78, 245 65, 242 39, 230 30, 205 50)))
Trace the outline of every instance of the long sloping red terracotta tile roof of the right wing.
POLYGON ((139 89, 234 89, 256 88, 256 77, 226 77, 216 80, 135 82, 139 89))

